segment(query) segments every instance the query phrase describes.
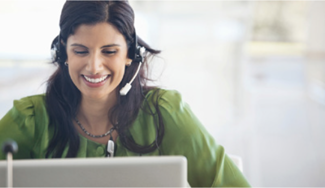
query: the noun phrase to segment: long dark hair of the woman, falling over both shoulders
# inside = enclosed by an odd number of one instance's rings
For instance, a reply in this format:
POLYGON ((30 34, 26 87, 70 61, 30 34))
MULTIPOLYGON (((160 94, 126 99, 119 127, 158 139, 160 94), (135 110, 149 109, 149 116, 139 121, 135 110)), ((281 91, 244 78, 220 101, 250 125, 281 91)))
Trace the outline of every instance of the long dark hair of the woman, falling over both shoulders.
MULTIPOLYGON (((57 42, 59 49, 53 63, 57 64, 56 71, 47 81, 46 88, 46 108, 49 115, 49 128, 53 128, 53 135, 49 142, 46 157, 61 157, 64 148, 68 144, 66 157, 74 157, 79 148, 79 137, 75 130, 72 119, 76 113, 80 102, 81 93, 72 82, 67 66, 64 62, 67 58, 64 45, 69 35, 73 34, 80 24, 96 24, 99 22, 108 22, 113 25, 124 37, 128 49, 134 41, 134 13, 127 1, 66 1, 63 5, 60 16, 60 33, 53 40, 57 42), (58 41, 60 40, 60 41, 58 41)), ((150 107, 145 99, 145 93, 152 89, 146 86, 148 80, 147 68, 148 58, 159 53, 159 50, 152 49, 141 38, 137 38, 138 45, 146 48, 146 57, 143 60, 143 66, 139 70, 137 78, 132 82, 132 88, 125 96, 117 99, 117 104, 109 110, 109 119, 114 129, 118 132, 121 143, 129 150, 137 153, 147 153, 159 148, 163 137, 163 122, 158 109, 157 98, 154 100, 155 110, 158 114, 158 124, 156 127, 156 139, 149 145, 139 145, 129 137, 128 127, 132 125, 139 109, 143 104, 150 107), (145 102, 144 102, 144 101, 145 102), (118 122, 116 124, 115 122, 118 122)), ((137 63, 132 63, 125 67, 124 76, 119 84, 119 88, 128 82, 137 69, 137 63)), ((119 90, 119 89, 118 89, 119 90)), ((159 92, 157 89, 155 92, 159 92)), ((158 96, 159 94, 155 94, 158 96)), ((147 109, 147 107, 145 109, 147 109)), ((152 111, 145 110, 152 114, 152 111)), ((156 123, 156 120, 155 120, 156 123)))

